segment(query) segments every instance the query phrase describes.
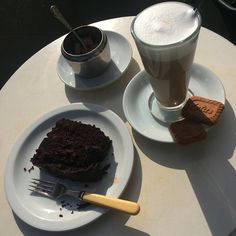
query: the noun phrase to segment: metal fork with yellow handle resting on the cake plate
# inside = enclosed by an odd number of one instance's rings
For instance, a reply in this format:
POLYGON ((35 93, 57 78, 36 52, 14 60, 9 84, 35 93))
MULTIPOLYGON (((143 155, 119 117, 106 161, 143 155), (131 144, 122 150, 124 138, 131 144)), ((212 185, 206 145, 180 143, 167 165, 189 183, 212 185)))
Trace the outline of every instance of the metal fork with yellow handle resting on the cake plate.
POLYGON ((86 191, 71 190, 64 184, 57 182, 49 182, 33 178, 29 186, 30 188, 28 190, 52 199, 57 199, 63 195, 69 195, 94 205, 119 210, 131 215, 137 215, 140 211, 140 206, 136 202, 113 198, 102 194, 89 193, 86 191))

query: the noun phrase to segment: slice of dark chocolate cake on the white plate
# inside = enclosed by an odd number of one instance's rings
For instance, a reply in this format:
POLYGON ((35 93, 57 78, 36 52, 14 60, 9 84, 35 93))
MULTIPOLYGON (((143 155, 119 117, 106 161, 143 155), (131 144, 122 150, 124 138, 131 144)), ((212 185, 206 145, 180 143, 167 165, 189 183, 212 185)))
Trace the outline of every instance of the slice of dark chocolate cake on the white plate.
POLYGON ((31 162, 55 176, 95 182, 106 172, 101 162, 111 143, 95 125, 61 119, 43 139, 31 162))

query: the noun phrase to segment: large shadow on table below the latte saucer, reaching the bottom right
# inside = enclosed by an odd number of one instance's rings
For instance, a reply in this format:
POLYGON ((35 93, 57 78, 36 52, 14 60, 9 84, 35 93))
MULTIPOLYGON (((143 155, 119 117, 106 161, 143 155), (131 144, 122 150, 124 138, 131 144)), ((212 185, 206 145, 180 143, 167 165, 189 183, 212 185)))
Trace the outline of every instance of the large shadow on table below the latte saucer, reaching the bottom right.
POLYGON ((236 146, 235 124, 233 108, 227 101, 220 122, 203 142, 189 146, 158 143, 133 131, 147 157, 157 164, 186 171, 214 236, 228 235, 236 224, 236 172, 230 163, 236 146))

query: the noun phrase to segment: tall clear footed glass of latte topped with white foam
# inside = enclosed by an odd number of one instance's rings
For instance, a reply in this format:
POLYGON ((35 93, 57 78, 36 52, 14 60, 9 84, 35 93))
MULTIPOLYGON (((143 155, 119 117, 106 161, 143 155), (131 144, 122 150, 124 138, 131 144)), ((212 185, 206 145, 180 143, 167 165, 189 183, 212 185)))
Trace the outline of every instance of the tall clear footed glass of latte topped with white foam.
POLYGON ((132 22, 131 33, 153 89, 149 107, 163 122, 181 119, 200 27, 200 14, 181 2, 150 6, 132 22))

